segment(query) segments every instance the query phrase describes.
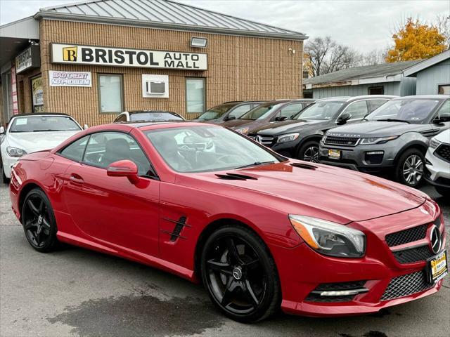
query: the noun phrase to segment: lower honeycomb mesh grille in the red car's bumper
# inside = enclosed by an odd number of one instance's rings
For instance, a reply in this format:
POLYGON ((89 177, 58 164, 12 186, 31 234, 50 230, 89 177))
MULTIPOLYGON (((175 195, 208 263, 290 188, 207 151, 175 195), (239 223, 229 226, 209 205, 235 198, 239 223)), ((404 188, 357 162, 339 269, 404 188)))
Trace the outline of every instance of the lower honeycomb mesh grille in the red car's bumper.
POLYGON ((401 275, 391 279, 380 300, 392 300, 393 298, 409 296, 413 293, 420 293, 420 291, 430 289, 432 286, 433 284, 427 282, 427 277, 423 270, 401 275))

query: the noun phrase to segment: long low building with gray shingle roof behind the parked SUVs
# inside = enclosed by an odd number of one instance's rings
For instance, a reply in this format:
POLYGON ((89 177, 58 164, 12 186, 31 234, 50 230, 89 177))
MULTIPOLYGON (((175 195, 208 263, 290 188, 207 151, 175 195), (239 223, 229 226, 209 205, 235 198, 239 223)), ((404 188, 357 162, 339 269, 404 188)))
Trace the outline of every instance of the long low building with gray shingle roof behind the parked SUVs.
POLYGON ((358 95, 415 95, 416 78, 404 70, 420 60, 352 67, 303 81, 304 98, 358 95))

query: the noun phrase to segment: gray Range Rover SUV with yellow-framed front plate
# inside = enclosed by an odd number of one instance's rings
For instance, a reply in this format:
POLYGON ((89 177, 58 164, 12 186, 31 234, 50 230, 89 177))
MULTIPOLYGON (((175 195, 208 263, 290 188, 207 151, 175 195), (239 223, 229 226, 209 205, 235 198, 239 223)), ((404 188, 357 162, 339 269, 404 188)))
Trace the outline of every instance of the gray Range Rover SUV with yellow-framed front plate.
POLYGON ((363 123, 326 132, 320 161, 367 173, 388 171, 399 183, 416 187, 423 180, 430 138, 449 127, 449 95, 395 98, 363 123))

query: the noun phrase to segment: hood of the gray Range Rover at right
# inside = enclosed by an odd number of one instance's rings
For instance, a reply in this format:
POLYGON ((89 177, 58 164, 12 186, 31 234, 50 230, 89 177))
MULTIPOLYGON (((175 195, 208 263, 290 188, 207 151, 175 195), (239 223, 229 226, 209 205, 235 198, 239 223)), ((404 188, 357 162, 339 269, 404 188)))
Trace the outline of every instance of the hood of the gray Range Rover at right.
POLYGON ((363 121, 333 128, 326 136, 375 138, 401 136, 406 132, 419 132, 430 129, 428 124, 408 124, 401 121, 363 121))

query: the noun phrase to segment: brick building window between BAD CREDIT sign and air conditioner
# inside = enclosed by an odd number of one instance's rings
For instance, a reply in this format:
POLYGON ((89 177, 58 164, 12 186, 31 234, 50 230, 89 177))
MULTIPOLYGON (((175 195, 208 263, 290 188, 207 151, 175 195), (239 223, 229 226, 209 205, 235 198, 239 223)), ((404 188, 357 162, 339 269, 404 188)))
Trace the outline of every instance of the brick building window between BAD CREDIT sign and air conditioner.
POLYGON ((98 74, 98 103, 101 113, 124 111, 122 75, 98 74))

